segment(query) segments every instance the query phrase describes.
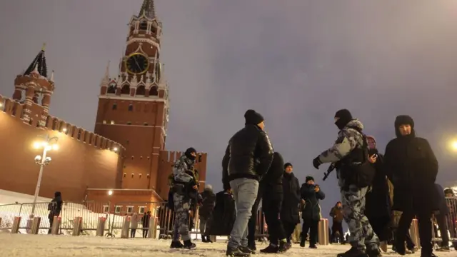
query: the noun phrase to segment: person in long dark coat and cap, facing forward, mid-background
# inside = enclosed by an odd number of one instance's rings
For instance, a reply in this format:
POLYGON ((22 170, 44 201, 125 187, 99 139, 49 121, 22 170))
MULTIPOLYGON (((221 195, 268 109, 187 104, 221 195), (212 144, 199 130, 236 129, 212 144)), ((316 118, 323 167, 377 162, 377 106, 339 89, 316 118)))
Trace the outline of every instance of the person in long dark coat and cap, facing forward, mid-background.
POLYGON ((284 164, 283 174, 283 206, 281 208, 281 221, 286 231, 286 239, 291 245, 291 236, 296 224, 300 223, 298 206, 300 205, 300 183, 293 174, 292 163, 284 164))

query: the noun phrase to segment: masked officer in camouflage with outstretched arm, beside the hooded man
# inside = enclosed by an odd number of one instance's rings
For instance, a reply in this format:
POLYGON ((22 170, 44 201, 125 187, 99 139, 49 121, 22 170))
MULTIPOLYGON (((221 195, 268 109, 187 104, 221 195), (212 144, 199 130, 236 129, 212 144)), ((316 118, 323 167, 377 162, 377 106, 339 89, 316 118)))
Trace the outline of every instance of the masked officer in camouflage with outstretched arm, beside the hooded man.
POLYGON ((377 257, 379 239, 373 232, 365 209, 365 195, 375 174, 374 168, 368 157, 368 141, 363 135, 363 124, 358 119, 353 119, 347 109, 342 109, 335 114, 335 125, 340 130, 338 139, 333 147, 313 159, 313 166, 318 168, 322 163, 338 162, 338 184, 341 187, 343 202, 343 217, 348 223, 349 241, 351 249, 338 257, 377 257), (370 181, 371 180, 371 181, 370 181))

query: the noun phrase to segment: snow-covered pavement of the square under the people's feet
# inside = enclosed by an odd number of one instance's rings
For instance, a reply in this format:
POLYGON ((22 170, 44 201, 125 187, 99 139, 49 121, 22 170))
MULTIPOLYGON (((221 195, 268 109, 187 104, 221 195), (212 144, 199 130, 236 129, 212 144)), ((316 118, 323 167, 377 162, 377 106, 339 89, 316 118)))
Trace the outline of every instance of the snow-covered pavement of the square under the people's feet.
MULTIPOLYGON (((0 232, 1 256, 9 257, 65 257, 65 256, 225 256, 226 244, 224 240, 218 243, 201 243, 196 241, 194 250, 171 250, 170 241, 143 239, 143 238, 100 238, 94 236, 49 236, 49 235, 24 235, 0 232)), ((258 248, 265 247, 258 244, 258 248)), ((337 253, 346 251, 348 246, 319 246, 318 249, 293 248, 282 256, 292 257, 335 257, 337 253)), ((256 254, 259 256, 260 254, 256 254)), ((437 253, 439 257, 457 256, 456 251, 437 253)), ((263 254, 261 256, 264 256, 263 254)), ((269 254, 268 256, 281 256, 269 254)), ((396 257, 396 254, 384 254, 396 257)), ((411 255, 420 256, 419 253, 411 255)))

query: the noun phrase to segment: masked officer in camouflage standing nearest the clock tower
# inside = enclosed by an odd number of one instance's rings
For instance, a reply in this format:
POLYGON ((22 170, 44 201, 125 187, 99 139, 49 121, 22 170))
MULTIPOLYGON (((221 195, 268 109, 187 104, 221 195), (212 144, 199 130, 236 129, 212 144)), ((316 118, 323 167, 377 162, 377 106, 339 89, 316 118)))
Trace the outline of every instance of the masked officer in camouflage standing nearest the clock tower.
POLYGON ((189 236, 189 209, 191 208, 191 198, 196 196, 197 182, 194 178, 194 161, 196 150, 188 148, 181 158, 174 163, 174 187, 173 201, 175 221, 173 227, 173 239, 170 248, 195 248, 195 243, 191 242, 189 236), (184 245, 179 241, 179 235, 184 241, 184 245))

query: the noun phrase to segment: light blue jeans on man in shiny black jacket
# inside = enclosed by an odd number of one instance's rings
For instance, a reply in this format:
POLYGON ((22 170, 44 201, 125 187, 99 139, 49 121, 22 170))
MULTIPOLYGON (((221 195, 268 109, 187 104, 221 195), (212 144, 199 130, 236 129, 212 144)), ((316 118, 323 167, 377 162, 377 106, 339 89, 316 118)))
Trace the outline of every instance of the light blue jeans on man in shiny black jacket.
POLYGON ((237 178, 230 181, 236 206, 236 220, 230 233, 229 248, 248 246, 248 221, 257 198, 258 181, 250 178, 237 178))

